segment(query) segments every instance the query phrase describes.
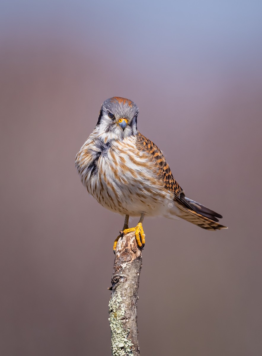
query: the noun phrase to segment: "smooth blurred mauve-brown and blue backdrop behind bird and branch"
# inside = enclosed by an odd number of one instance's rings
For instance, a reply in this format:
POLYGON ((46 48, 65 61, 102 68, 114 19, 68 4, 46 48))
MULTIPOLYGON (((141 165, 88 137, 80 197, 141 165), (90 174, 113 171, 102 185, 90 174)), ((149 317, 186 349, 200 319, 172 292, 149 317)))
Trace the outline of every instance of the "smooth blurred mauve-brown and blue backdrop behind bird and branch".
POLYGON ((145 220, 141 354, 261 355, 261 1, 0 6, 0 354, 111 355, 123 217, 74 160, 102 102, 123 96, 186 195, 229 226, 145 220))

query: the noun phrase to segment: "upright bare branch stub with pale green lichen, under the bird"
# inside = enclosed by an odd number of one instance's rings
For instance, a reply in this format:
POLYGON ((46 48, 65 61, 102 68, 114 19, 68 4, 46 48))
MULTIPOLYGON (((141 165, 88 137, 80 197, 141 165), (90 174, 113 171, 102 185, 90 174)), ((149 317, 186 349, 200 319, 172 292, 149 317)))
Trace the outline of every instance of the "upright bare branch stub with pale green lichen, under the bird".
POLYGON ((113 356, 140 355, 137 330, 137 300, 142 267, 141 249, 135 233, 117 242, 112 276, 109 322, 113 356))

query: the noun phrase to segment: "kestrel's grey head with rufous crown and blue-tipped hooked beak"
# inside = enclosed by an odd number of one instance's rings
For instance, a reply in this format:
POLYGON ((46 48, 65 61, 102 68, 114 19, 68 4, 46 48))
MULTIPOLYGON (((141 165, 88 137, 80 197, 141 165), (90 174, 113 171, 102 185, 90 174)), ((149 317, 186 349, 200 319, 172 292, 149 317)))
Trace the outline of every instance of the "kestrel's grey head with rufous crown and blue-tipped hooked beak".
POLYGON ((109 98, 101 106, 95 131, 105 142, 136 135, 138 112, 137 105, 129 99, 109 98))

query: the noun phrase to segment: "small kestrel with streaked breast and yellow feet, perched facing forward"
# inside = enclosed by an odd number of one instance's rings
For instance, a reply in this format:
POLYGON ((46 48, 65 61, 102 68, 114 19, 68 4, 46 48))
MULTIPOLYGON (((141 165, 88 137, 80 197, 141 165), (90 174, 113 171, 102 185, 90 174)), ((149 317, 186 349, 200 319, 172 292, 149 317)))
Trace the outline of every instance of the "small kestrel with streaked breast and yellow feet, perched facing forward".
POLYGON ((87 191, 105 208, 125 215, 123 234, 135 231, 139 247, 145 244, 144 216, 178 216, 206 230, 227 229, 218 223, 220 214, 186 198, 163 153, 137 130, 138 112, 129 99, 114 96, 103 102, 96 127, 75 159, 87 191), (131 229, 129 216, 140 216, 131 229))

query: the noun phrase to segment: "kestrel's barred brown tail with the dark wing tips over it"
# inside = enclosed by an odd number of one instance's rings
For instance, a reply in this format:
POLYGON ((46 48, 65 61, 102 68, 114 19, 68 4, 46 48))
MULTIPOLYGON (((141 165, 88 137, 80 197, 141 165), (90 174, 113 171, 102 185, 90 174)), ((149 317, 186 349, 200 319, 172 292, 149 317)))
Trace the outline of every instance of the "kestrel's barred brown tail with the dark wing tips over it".
POLYGON ((197 203, 194 200, 185 197, 187 203, 192 206, 192 209, 188 209, 186 206, 176 204, 180 209, 180 218, 189 221, 190 223, 202 227, 206 230, 221 230, 228 229, 228 227, 220 225, 217 218, 222 218, 222 215, 216 213, 213 210, 208 209, 206 206, 197 203))

